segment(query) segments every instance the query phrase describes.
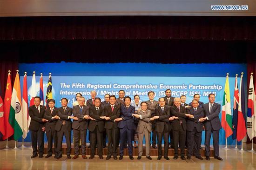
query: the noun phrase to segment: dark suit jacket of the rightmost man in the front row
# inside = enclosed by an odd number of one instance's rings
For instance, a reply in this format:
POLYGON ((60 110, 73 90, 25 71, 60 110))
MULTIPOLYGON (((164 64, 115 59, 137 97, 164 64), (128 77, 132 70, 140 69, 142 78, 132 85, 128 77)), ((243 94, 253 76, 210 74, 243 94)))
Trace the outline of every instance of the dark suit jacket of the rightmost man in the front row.
POLYGON ((212 112, 209 111, 209 103, 203 105, 204 116, 207 116, 209 120, 205 120, 204 128, 209 130, 212 126, 213 130, 220 130, 222 128, 219 113, 221 112, 221 105, 219 103, 213 103, 212 112))

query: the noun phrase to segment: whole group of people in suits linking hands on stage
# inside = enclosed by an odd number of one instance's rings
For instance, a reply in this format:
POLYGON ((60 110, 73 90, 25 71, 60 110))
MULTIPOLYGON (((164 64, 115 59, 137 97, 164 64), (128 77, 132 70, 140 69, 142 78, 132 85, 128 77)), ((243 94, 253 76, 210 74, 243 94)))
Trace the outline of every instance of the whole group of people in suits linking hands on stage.
POLYGON ((220 105, 215 103, 215 94, 209 94, 209 103, 203 104, 199 101, 199 94, 194 95, 193 101, 188 105, 185 103, 186 96, 180 98, 171 96, 171 90, 165 91, 166 96, 158 101, 154 100, 154 91, 148 92, 148 101, 141 102, 141 109, 135 113, 135 107, 131 106, 131 98, 124 97, 124 90, 119 91, 119 98, 115 95, 105 95, 108 98, 101 102, 101 99, 95 95, 87 101, 85 98, 78 99, 79 105, 72 108, 67 107, 67 99, 61 99, 60 108, 55 108, 55 101, 49 100, 49 107, 40 105, 40 97, 34 98, 34 105, 29 107, 33 157, 43 157, 44 131, 47 134, 48 147, 47 156, 53 154, 52 146, 54 141, 55 158, 62 157, 62 139, 65 135, 67 141, 67 158, 70 159, 71 152, 71 130, 74 132, 74 157, 79 157, 79 141, 81 140, 82 158, 86 159, 86 136, 87 130, 90 132, 91 152, 89 159, 93 159, 95 148, 98 148, 98 155, 103 159, 104 136, 108 137, 108 155, 106 159, 112 156, 117 159, 117 148, 120 142, 120 157, 123 158, 124 148, 128 145, 128 155, 133 160, 132 141, 134 133, 138 135, 138 157, 142 156, 143 138, 146 142, 146 157, 150 157, 150 134, 152 132, 152 147, 158 149, 158 160, 162 156, 168 158, 169 144, 175 149, 174 159, 178 158, 178 148, 181 149, 181 158, 185 160, 185 144, 187 139, 188 154, 187 159, 193 155, 202 159, 200 155, 200 146, 202 141, 202 131, 205 129, 205 154, 209 160, 209 142, 211 133, 214 139, 215 158, 219 157, 219 129, 221 128, 219 113, 220 105), (73 116, 72 116, 73 114, 73 116), (138 126, 135 126, 135 119, 138 120, 138 126), (71 121, 73 119, 73 122, 71 121), (106 135, 104 134, 106 133, 106 135), (170 138, 170 143, 169 143, 170 138), (157 139, 157 140, 156 140, 157 139), (162 139, 164 140, 164 152, 162 154, 162 139), (37 150, 37 142, 39 151, 37 150), (97 145, 97 146, 96 146, 97 145), (57 149, 56 149, 57 148, 57 149))

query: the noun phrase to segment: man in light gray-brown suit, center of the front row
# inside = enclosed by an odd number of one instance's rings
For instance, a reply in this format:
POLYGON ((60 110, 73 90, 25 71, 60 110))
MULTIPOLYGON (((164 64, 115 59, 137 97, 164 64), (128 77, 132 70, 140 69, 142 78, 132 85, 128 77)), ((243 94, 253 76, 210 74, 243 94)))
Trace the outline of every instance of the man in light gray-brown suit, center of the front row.
POLYGON ((137 135, 138 135, 138 160, 141 159, 143 153, 143 138, 145 136, 146 142, 146 157, 151 160, 152 158, 149 156, 150 151, 150 133, 152 132, 152 126, 149 122, 149 118, 151 117, 150 110, 147 110, 147 103, 145 101, 141 102, 141 110, 138 110, 137 114, 133 114, 138 120, 137 126, 137 135))

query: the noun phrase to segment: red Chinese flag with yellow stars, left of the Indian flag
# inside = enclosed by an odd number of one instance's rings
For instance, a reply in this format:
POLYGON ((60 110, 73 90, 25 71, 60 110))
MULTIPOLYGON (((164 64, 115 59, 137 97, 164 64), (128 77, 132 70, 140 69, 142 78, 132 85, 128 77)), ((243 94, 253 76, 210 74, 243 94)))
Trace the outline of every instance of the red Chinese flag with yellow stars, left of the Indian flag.
POLYGON ((13 127, 9 122, 9 114, 12 100, 12 82, 11 82, 11 71, 8 71, 7 85, 5 90, 5 99, 4 99, 4 120, 5 120, 5 135, 3 140, 11 137, 13 135, 13 127))

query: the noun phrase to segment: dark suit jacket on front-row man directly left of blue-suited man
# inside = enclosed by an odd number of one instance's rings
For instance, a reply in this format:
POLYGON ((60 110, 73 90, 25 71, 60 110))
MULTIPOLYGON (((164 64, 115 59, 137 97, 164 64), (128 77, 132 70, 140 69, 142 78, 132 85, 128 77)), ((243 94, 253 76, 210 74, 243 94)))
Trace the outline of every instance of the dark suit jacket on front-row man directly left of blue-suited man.
POLYGON ((117 129, 118 122, 114 122, 114 120, 120 117, 120 106, 115 104, 112 112, 111 105, 108 105, 105 107, 104 111, 105 116, 110 118, 110 120, 105 121, 105 129, 112 129, 112 127, 117 129))

